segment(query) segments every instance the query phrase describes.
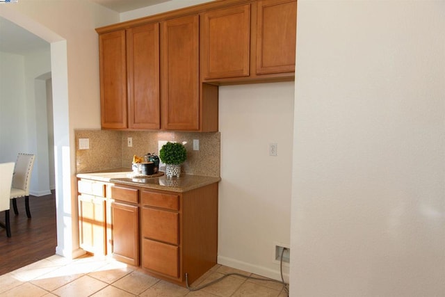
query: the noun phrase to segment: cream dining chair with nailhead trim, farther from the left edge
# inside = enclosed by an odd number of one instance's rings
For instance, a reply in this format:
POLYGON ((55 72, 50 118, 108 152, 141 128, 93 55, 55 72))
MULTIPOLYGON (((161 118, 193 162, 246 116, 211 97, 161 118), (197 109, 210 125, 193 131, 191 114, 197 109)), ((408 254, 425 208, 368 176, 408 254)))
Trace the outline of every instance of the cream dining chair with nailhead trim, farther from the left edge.
POLYGON ((29 210, 29 184, 31 183, 34 160, 35 154, 18 154, 10 194, 10 199, 13 200, 14 214, 16 215, 19 214, 16 199, 20 197, 25 198, 26 216, 28 216, 28 218, 31 218, 31 211, 29 210))

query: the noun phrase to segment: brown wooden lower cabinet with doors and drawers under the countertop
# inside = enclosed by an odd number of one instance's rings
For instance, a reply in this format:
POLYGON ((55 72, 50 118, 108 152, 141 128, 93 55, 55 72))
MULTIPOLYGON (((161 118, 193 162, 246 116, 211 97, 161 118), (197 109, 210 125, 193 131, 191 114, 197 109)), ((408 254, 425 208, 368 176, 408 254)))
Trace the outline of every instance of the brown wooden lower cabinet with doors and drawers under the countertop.
POLYGON ((186 274, 191 284, 216 265, 218 183, 177 193, 79 179, 78 191, 79 239, 88 252, 182 286, 186 274))

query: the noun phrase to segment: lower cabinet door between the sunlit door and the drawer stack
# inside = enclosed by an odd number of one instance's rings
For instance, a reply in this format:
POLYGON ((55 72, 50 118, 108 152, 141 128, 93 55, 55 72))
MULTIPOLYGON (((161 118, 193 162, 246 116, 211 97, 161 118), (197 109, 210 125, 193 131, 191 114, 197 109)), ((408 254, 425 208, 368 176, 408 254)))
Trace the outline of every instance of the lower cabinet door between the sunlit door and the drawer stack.
POLYGON ((113 257, 120 262, 139 265, 138 207, 118 202, 111 203, 113 257))

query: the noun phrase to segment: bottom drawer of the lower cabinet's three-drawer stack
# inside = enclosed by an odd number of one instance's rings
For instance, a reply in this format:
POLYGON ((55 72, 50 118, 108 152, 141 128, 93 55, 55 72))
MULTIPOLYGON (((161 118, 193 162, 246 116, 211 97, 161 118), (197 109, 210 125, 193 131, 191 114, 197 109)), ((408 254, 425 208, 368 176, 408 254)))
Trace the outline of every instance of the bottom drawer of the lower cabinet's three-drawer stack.
POLYGON ((179 277, 179 247, 144 239, 143 255, 144 268, 179 277))

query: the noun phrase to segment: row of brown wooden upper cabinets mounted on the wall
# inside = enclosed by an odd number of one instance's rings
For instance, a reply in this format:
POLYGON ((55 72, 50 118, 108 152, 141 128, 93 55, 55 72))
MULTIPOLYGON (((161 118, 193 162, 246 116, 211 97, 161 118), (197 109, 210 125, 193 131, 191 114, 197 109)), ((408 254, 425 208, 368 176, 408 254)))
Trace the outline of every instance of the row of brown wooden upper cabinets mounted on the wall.
POLYGON ((296 0, 217 0, 96 29, 103 129, 218 131, 218 86, 291 81, 296 0))

